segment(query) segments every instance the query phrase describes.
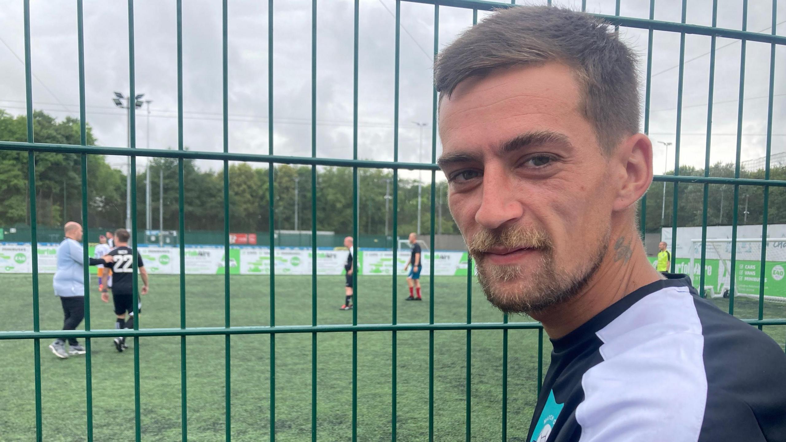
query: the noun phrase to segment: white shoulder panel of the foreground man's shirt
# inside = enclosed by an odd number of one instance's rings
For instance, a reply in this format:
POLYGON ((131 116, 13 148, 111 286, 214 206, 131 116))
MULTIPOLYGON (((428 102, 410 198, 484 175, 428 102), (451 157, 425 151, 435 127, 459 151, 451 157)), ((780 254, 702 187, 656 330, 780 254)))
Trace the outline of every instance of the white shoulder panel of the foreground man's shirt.
POLYGON ((666 287, 596 333, 603 361, 582 377, 582 440, 697 440, 707 378, 692 305, 687 287, 666 287))

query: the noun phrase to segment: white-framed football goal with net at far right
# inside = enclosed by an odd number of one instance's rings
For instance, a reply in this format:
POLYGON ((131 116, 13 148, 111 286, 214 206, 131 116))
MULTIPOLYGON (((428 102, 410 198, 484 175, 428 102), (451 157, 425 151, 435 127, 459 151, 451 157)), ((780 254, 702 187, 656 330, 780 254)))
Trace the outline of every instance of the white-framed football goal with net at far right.
MULTIPOLYGON (((764 261, 764 298, 786 302, 786 238, 767 238, 764 261)), ((700 239, 691 240, 689 274, 695 285, 701 276, 700 239)), ((709 297, 729 297, 731 278, 735 297, 758 299, 762 276, 762 239, 736 240, 735 267, 732 268, 732 240, 707 239, 703 290, 709 297)))

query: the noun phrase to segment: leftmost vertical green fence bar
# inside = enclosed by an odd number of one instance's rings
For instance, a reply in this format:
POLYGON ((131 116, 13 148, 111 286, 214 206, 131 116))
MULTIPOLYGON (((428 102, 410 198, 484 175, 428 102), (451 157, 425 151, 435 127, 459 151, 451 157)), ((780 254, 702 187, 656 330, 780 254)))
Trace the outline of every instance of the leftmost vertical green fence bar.
MULTIPOLYGON (((27 111, 28 142, 33 138, 33 82, 30 58, 30 0, 24 0, 24 97, 27 111)), ((33 330, 41 330, 39 324, 39 232, 38 217, 35 208, 35 155, 28 150, 28 189, 30 193, 30 242, 33 264, 33 330)), ((33 366, 35 378, 35 440, 41 442, 42 410, 41 410, 41 340, 33 340, 33 366)))

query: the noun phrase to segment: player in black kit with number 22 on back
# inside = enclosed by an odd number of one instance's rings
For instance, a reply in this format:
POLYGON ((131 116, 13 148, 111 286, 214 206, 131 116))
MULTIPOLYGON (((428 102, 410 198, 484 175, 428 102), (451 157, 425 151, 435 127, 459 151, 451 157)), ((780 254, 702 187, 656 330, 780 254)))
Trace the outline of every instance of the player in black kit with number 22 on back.
MULTIPOLYGON (((116 230, 115 248, 108 252, 114 261, 112 263, 112 301, 115 304, 115 315, 117 315, 115 328, 118 330, 134 328, 134 252, 128 247, 129 238, 128 230, 116 230), (128 313, 127 320, 126 313, 128 313)), ((144 284, 139 294, 145 295, 148 293, 148 274, 139 252, 137 252, 137 266, 144 284)), ((109 302, 108 293, 101 293, 101 300, 109 302)), ((139 301, 137 312, 141 311, 141 307, 142 303, 139 301)), ((118 352, 128 348, 125 337, 116 337, 114 341, 118 352)))

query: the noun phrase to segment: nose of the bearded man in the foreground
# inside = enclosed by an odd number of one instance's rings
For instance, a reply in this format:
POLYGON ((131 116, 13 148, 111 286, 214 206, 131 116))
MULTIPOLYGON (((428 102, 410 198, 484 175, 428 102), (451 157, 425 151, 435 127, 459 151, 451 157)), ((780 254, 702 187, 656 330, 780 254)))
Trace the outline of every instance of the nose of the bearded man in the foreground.
POLYGON ((503 168, 487 164, 483 171, 483 200, 475 214, 476 223, 496 229, 520 219, 523 205, 516 200, 516 182, 503 168))

